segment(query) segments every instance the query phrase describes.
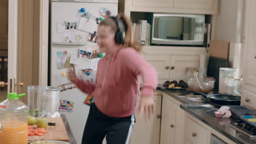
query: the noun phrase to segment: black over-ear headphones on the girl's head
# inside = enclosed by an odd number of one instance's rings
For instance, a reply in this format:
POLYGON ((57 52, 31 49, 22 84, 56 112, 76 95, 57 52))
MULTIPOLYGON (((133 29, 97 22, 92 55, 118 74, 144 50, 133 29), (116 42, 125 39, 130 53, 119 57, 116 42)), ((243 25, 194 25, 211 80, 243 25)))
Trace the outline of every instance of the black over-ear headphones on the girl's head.
POLYGON ((125 30, 123 24, 118 20, 117 17, 109 16, 111 19, 115 21, 117 24, 117 32, 115 32, 115 43, 116 44, 124 44, 125 38, 125 30))

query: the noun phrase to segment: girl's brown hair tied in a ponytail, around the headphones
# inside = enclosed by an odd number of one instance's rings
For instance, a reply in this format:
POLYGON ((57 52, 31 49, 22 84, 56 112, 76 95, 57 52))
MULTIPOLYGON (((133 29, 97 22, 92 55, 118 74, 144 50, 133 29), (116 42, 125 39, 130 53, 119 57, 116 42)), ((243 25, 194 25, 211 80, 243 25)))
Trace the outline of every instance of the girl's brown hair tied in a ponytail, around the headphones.
MULTIPOLYGON (((118 14, 117 18, 124 25, 125 38, 123 47, 132 47, 137 52, 141 52, 142 46, 138 43, 137 40, 135 40, 131 20, 127 18, 124 14, 118 14)), ((99 26, 101 25, 110 26, 114 32, 116 32, 118 28, 116 22, 113 19, 110 19, 109 17, 101 21, 99 26)))

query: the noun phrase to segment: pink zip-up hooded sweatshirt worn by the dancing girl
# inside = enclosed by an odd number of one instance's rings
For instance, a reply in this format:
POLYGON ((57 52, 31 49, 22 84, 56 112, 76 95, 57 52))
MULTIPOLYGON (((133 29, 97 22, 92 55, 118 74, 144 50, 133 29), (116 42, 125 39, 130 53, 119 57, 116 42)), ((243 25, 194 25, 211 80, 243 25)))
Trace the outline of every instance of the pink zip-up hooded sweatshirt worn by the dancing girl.
POLYGON ((158 85, 155 69, 138 52, 127 47, 118 49, 110 61, 104 56, 98 62, 96 83, 77 79, 75 85, 95 99, 102 113, 111 117, 127 117, 136 111, 142 76, 142 97, 153 97, 158 85))

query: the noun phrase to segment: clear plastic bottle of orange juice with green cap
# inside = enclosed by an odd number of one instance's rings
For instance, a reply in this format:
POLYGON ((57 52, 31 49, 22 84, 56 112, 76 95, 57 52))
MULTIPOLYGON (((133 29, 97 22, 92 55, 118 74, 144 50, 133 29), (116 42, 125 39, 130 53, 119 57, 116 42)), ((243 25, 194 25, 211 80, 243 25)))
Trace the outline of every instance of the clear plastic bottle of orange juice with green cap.
POLYGON ((9 93, 0 103, 0 143, 27 144, 27 106, 19 100, 25 94, 9 93))

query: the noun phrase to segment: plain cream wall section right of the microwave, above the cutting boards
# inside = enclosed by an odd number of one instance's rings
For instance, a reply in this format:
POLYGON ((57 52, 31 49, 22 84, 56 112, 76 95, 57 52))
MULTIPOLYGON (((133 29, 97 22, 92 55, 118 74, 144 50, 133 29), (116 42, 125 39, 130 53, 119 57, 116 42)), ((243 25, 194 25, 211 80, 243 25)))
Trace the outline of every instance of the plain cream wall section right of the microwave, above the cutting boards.
POLYGON ((216 22, 216 40, 242 43, 245 0, 220 0, 216 22))

